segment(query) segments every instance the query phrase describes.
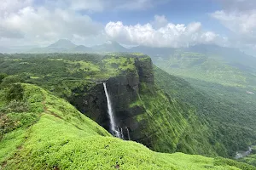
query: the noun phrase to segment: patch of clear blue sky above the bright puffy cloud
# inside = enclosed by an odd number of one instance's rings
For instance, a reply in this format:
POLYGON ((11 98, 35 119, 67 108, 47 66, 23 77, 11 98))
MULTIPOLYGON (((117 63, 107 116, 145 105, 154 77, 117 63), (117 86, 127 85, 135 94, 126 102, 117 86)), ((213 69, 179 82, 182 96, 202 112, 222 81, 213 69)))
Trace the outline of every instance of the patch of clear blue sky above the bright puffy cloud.
POLYGON ((123 20, 125 24, 145 24, 152 20, 155 14, 166 15, 174 23, 189 23, 191 21, 207 21, 210 13, 221 9, 219 3, 211 0, 172 0, 168 3, 156 5, 154 8, 143 10, 111 10, 106 13, 91 14, 96 20, 108 23, 109 20, 123 20))

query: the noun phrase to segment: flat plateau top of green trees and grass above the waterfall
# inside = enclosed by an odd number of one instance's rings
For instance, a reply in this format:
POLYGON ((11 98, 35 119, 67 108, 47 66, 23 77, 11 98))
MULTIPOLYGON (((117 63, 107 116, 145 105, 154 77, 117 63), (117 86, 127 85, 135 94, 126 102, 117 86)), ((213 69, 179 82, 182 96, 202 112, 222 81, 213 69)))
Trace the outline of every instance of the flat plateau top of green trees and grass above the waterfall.
POLYGON ((124 58, 122 54, 6 54, 0 58, 0 72, 13 76, 4 78, 2 86, 33 83, 67 98, 97 81, 133 71, 135 57, 145 55, 125 54, 124 58))

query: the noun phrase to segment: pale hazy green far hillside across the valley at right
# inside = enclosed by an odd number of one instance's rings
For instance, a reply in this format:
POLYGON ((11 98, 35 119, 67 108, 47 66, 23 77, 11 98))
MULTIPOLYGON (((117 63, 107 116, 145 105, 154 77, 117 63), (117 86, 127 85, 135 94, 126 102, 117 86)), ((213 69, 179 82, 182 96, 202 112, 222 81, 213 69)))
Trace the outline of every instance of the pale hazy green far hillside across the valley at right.
POLYGON ((178 77, 193 78, 231 87, 254 87, 253 71, 245 71, 225 61, 222 56, 205 53, 176 51, 154 64, 178 77))

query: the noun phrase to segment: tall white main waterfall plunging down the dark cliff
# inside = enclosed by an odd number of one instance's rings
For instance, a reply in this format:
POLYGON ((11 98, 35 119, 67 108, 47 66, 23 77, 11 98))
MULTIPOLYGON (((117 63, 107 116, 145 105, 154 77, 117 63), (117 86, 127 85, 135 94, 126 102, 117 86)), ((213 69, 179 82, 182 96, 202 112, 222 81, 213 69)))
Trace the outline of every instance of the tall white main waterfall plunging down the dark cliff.
POLYGON ((107 86, 106 86, 106 82, 103 82, 103 86, 104 86, 104 90, 105 90, 105 94, 106 94, 106 98, 107 98, 107 102, 108 102, 108 116, 109 116, 109 119, 110 119, 111 131, 113 133, 113 136, 121 138, 120 133, 119 133, 119 129, 116 126, 115 121, 114 121, 113 109, 112 109, 111 101, 109 99, 108 89, 107 89, 107 86))

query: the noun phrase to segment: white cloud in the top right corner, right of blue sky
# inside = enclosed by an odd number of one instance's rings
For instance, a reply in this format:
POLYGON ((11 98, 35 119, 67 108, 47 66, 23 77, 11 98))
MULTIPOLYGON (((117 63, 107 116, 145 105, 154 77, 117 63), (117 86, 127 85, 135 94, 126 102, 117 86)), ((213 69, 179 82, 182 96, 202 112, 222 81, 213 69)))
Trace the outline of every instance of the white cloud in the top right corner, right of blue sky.
POLYGON ((232 46, 236 48, 255 47, 256 44, 256 1, 224 0, 223 9, 211 14, 228 28, 232 46))

